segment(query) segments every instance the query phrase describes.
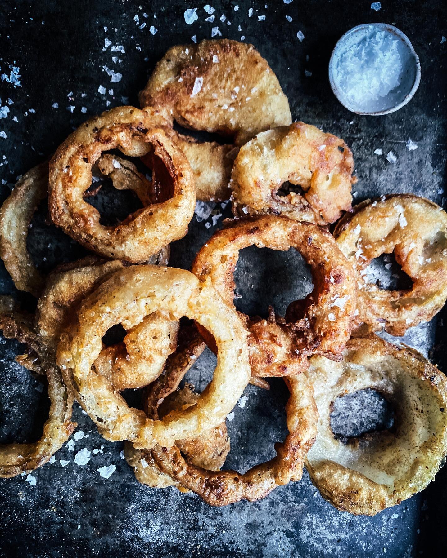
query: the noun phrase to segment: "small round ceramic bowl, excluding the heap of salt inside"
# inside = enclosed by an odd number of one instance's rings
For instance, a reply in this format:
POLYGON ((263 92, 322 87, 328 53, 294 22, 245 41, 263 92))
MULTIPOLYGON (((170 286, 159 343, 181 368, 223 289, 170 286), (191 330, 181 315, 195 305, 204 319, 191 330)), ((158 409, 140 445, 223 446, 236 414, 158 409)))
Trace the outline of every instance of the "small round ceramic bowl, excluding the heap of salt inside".
POLYGON ((410 39, 397 27, 387 25, 386 23, 365 23, 353 27, 337 41, 329 61, 329 81, 335 97, 345 108, 356 114, 381 116, 382 114, 389 114, 402 108, 416 93, 420 80, 421 65, 410 39), (401 81, 385 97, 379 97, 377 100, 364 100, 363 102, 355 103, 354 106, 352 100, 346 97, 345 92, 339 86, 337 76, 341 71, 343 72, 343 68, 341 70, 340 68, 337 69, 337 64, 340 61, 340 57, 346 52, 346 48, 349 45, 355 44, 356 36, 363 36, 368 31, 368 28, 372 28, 371 31, 373 32, 384 31, 389 33, 393 36, 393 40, 397 39, 399 41, 398 50, 402 62, 401 81))

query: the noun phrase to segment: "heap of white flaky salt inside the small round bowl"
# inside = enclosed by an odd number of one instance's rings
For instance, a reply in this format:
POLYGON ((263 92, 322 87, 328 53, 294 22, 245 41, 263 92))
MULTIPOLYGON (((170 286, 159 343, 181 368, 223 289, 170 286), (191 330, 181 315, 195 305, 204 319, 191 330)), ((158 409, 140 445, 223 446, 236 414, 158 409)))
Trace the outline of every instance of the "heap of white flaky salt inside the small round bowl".
POLYGON ((335 85, 356 106, 386 97, 401 83, 401 48, 391 33, 372 25, 353 33, 334 65, 335 85))

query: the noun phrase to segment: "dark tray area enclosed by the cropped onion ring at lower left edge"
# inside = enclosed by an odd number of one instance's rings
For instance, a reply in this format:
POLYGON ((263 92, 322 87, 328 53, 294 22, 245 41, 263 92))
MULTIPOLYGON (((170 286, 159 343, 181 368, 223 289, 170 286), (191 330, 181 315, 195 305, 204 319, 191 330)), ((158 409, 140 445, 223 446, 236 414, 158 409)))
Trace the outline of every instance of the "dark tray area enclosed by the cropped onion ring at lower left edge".
POLYGON ((42 435, 50 400, 44 377, 15 362, 26 352, 26 345, 0 337, 0 444, 32 444, 42 435))

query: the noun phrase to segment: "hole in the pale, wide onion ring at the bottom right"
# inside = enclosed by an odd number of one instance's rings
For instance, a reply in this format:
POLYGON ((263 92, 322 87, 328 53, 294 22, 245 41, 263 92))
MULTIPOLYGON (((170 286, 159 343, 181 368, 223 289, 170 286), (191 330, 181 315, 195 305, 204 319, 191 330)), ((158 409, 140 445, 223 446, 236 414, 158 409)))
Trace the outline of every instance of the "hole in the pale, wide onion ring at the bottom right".
POLYGON ((390 430, 393 405, 377 389, 359 389, 332 401, 330 422, 335 439, 349 444, 365 434, 390 430))

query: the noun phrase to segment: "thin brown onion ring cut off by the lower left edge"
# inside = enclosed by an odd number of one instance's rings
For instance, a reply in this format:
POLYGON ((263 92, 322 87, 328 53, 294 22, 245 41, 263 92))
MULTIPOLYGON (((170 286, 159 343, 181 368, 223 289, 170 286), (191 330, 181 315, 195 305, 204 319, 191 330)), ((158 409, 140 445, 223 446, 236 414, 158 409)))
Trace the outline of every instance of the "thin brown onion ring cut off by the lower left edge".
POLYGON ((0 297, 0 329, 4 337, 26 343, 33 360, 39 361, 39 368, 46 374, 51 402, 49 418, 45 422, 40 440, 34 444, 0 445, 0 477, 3 478, 30 473, 47 463, 76 427, 70 421, 73 395, 66 389, 59 369, 48 357, 31 327, 31 318, 15 310, 11 297, 0 297))

